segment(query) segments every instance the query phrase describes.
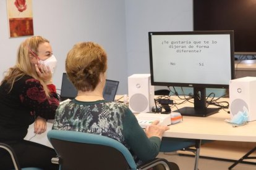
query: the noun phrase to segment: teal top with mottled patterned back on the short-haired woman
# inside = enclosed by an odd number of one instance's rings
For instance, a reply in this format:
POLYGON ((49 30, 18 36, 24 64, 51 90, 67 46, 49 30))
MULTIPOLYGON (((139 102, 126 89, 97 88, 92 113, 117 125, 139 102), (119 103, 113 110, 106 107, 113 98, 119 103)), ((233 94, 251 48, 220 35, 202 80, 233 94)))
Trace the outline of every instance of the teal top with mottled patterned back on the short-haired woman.
POLYGON ((111 137, 130 150, 137 164, 152 160, 160 150, 161 139, 148 139, 132 111, 118 102, 64 102, 56 110, 53 129, 111 137))

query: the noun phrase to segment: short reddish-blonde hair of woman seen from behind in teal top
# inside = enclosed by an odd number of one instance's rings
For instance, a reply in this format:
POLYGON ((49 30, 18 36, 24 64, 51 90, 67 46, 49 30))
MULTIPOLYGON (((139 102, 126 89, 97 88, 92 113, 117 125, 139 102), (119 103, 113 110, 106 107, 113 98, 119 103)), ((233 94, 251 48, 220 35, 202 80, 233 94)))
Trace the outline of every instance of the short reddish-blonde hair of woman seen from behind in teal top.
POLYGON ((67 54, 67 76, 77 90, 93 91, 106 70, 106 52, 95 42, 77 43, 67 54))

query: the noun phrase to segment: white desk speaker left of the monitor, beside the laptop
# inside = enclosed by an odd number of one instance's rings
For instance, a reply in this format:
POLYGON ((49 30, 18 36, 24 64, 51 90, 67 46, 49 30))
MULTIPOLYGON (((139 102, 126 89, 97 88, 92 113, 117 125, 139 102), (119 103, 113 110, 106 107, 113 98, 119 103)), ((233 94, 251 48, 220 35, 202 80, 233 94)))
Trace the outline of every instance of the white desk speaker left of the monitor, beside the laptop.
POLYGON ((145 113, 155 105, 154 86, 150 74, 135 74, 128 77, 129 108, 133 113, 145 113))

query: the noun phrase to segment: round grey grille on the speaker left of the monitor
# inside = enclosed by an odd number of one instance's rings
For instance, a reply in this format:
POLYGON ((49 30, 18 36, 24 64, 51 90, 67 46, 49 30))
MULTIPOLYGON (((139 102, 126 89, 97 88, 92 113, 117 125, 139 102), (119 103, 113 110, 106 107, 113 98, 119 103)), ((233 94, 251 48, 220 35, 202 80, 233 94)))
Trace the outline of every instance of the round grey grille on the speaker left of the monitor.
POLYGON ((142 112, 142 111, 146 110, 146 108, 148 107, 147 97, 145 97, 145 95, 139 94, 139 93, 134 94, 130 98, 129 106, 136 113, 142 112))

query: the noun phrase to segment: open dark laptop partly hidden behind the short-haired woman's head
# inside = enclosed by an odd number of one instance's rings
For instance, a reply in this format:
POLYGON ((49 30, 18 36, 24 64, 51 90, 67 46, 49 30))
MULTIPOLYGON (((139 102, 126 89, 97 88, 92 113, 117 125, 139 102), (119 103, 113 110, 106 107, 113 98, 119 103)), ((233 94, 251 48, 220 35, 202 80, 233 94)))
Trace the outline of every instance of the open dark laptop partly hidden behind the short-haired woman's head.
MULTIPOLYGON (((117 88, 119 81, 114 81, 106 79, 106 84, 103 90, 103 98, 109 102, 113 102, 116 97, 117 88)), ((67 74, 63 73, 62 75, 62 84, 61 84, 61 100, 74 99, 77 96, 77 89, 67 78, 67 74)))

